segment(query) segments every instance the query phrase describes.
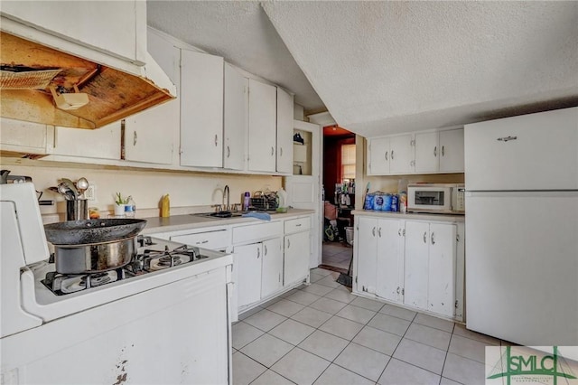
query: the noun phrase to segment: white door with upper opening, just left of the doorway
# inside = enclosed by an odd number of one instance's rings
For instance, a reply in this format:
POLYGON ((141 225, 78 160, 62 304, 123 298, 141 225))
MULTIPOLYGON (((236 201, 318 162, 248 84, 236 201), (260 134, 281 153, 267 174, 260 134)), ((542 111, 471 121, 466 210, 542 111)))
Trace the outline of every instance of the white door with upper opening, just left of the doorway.
POLYGON ((322 264, 322 127, 312 123, 294 120, 294 129, 311 133, 311 174, 285 177, 284 189, 287 192, 287 204, 295 209, 314 210, 311 222, 311 259, 310 268, 322 264))

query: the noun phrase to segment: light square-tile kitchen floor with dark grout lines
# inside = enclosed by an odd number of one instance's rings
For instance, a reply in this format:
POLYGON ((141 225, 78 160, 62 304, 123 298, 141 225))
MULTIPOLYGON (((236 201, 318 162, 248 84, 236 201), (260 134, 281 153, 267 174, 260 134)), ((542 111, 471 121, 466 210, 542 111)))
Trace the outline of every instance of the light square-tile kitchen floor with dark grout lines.
POLYGON ((301 286, 233 325, 233 383, 484 383, 484 347, 508 344, 461 324, 350 294, 339 273, 301 286))

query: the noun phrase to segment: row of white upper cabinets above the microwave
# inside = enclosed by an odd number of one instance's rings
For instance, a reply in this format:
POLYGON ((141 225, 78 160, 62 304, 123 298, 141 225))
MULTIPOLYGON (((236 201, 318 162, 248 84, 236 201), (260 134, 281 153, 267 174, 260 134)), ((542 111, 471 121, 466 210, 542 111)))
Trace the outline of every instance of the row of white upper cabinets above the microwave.
POLYGON ((463 173, 463 128, 368 139, 368 175, 463 173))

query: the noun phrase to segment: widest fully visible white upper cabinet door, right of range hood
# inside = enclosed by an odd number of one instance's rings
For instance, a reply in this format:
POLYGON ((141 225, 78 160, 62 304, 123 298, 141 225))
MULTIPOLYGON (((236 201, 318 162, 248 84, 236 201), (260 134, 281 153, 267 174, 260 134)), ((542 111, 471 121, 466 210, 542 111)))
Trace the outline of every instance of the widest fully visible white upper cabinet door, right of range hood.
POLYGON ((181 51, 181 165, 223 166, 223 70, 219 56, 181 51))

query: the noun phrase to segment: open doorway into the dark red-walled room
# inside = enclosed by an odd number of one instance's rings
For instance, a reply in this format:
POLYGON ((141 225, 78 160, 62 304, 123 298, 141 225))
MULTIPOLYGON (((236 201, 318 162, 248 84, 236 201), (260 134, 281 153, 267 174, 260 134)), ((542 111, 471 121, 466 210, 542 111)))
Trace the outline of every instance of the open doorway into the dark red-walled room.
POLYGON ((323 127, 323 189, 321 267, 347 273, 353 258, 355 134, 338 125, 323 127))

